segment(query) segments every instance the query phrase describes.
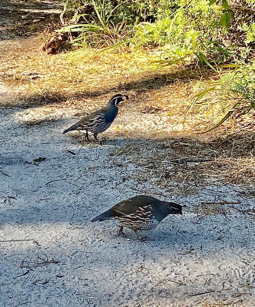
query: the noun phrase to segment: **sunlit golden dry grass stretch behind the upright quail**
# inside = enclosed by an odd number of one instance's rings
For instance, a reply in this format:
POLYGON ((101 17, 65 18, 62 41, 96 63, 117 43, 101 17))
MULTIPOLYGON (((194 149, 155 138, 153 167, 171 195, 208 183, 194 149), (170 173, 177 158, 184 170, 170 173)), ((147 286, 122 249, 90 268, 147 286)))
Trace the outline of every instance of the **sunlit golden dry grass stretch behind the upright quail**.
POLYGON ((38 41, 31 39, 30 45, 25 42, 14 42, 11 49, 2 46, 2 79, 20 92, 8 102, 0 101, 0 107, 57 102, 61 107, 79 109, 84 99, 92 104, 93 98, 103 100, 120 91, 131 96, 141 113, 165 115, 169 126, 185 123, 189 134, 210 128, 222 116, 220 107, 214 103, 199 105, 187 114, 202 81, 205 83, 212 75, 206 69, 193 66, 159 69, 149 64, 151 53, 139 49, 121 52, 80 49, 47 56, 38 41), (34 73, 28 75, 30 71, 34 73))

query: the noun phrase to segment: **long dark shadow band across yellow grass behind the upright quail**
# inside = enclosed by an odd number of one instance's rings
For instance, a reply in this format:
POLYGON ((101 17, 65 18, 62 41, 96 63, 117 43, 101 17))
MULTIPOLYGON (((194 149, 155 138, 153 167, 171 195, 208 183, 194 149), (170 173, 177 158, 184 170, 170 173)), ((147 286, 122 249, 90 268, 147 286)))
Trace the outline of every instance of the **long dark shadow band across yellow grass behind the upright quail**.
POLYGON ((201 79, 201 70, 203 78, 209 78, 214 76, 215 73, 211 72, 208 69, 197 68, 194 65, 186 65, 183 68, 180 68, 174 72, 143 72, 139 74, 135 80, 126 81, 123 83, 116 84, 116 86, 108 87, 103 90, 96 91, 77 91, 77 92, 68 92, 63 93, 62 91, 45 91, 43 94, 33 94, 31 96, 19 95, 18 99, 15 101, 9 100, 8 102, 3 102, 0 104, 1 107, 10 108, 29 108, 29 107, 39 107, 52 104, 61 104, 66 102, 68 99, 75 98, 77 102, 79 99, 89 99, 89 98, 101 98, 104 95, 116 92, 128 93, 131 91, 131 95, 135 96, 134 98, 139 103, 139 97, 145 93, 152 90, 157 90, 163 87, 166 87, 170 84, 179 84, 179 83, 189 83, 191 80, 200 80, 201 79))

